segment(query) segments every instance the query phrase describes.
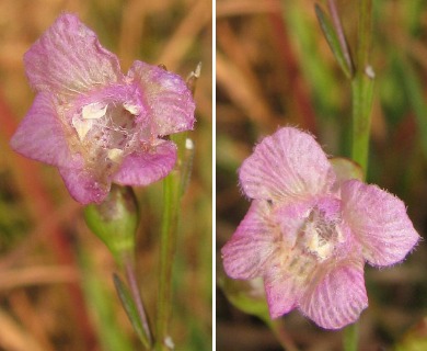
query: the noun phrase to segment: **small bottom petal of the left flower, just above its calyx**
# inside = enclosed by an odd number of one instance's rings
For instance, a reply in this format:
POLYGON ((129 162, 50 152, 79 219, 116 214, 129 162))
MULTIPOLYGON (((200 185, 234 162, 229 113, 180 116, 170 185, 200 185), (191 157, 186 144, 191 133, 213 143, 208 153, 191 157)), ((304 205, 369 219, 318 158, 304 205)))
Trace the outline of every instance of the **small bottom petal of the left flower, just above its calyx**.
POLYGON ((71 196, 83 205, 101 203, 109 192, 111 183, 101 182, 82 168, 59 168, 59 172, 71 196))

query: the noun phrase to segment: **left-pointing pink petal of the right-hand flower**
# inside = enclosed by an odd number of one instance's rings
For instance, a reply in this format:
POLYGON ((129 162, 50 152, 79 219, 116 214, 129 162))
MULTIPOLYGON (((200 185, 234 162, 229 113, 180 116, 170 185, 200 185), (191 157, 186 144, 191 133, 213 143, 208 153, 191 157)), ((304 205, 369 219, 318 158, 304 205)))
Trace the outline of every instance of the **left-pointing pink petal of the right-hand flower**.
POLYGON ((221 249, 226 273, 233 279, 265 274, 265 264, 275 251, 279 235, 266 219, 267 204, 254 201, 230 241, 221 249))

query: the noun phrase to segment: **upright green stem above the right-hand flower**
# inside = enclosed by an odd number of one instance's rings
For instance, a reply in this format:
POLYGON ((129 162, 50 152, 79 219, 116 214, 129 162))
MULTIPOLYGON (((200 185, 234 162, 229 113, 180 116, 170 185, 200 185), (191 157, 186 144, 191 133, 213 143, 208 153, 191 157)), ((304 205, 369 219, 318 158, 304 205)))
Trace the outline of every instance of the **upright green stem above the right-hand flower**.
POLYGON ((372 36, 372 0, 359 1, 359 30, 353 92, 353 159, 366 174, 373 97, 373 69, 369 64, 372 36))

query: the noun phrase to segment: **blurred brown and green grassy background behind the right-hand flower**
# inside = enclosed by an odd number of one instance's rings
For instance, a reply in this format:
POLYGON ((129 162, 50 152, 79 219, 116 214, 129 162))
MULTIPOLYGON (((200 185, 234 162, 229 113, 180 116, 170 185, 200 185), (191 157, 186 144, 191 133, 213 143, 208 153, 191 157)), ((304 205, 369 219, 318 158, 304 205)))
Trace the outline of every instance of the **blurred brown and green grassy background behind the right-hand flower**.
MULTIPOLYGON (((217 282, 219 250, 249 208, 236 170, 253 145, 279 126, 313 133, 326 154, 350 155, 350 86, 314 13, 313 0, 217 0, 217 282)), ((336 0, 355 52, 358 1, 336 0)), ((376 71, 368 182, 395 193, 414 226, 427 225, 427 2, 373 1, 376 71)), ((427 249, 404 262, 367 267, 369 308, 359 350, 427 350, 427 249), (424 341, 423 341, 424 340, 424 341), (424 343, 423 343, 424 342, 424 343), (417 347, 417 349, 416 349, 417 347)), ((298 312, 284 317, 300 350, 342 350, 342 331, 315 327, 298 312)), ((256 317, 217 290, 218 350, 281 350, 256 317)))

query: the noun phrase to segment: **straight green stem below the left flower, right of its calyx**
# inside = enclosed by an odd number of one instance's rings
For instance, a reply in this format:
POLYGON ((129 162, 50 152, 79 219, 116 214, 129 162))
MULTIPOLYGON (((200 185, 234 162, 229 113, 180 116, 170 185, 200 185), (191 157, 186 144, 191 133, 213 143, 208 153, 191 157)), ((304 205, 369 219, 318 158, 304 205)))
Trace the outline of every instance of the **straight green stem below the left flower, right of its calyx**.
POLYGON ((172 268, 175 253, 176 227, 180 210, 180 173, 172 171, 163 181, 163 222, 160 238, 160 278, 157 306, 155 350, 169 350, 166 344, 172 313, 172 268))

